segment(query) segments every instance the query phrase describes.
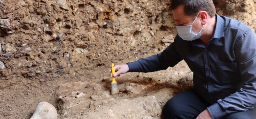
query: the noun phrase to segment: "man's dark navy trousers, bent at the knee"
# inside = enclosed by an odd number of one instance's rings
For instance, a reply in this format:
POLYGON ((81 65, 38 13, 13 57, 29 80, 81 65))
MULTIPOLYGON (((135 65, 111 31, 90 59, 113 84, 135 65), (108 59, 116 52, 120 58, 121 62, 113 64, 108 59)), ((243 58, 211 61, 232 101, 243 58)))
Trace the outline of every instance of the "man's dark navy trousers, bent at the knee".
MULTIPOLYGON (((210 103, 203 100, 194 90, 188 90, 172 97, 163 108, 165 119, 195 119, 210 103)), ((223 119, 256 119, 256 108, 240 111, 223 119)))

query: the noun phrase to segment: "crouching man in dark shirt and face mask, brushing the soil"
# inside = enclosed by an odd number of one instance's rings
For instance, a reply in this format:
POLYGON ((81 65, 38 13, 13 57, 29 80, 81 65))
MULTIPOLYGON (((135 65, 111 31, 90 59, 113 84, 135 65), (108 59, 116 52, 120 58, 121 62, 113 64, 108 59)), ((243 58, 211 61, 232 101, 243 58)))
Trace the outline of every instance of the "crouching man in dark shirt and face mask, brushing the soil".
POLYGON ((163 52, 126 65, 126 72, 152 72, 184 59, 194 72, 193 90, 171 98, 171 119, 256 119, 256 36, 247 25, 216 14, 212 0, 172 0, 178 35, 163 52))

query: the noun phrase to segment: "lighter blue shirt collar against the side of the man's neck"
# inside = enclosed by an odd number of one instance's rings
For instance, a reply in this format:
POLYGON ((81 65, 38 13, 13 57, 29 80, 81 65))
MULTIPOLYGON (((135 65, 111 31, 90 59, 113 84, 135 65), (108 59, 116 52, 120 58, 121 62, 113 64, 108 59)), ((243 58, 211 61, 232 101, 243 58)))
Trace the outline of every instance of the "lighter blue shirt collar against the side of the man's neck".
POLYGON ((223 23, 224 20, 218 14, 216 14, 216 27, 213 38, 221 38, 224 36, 223 23))

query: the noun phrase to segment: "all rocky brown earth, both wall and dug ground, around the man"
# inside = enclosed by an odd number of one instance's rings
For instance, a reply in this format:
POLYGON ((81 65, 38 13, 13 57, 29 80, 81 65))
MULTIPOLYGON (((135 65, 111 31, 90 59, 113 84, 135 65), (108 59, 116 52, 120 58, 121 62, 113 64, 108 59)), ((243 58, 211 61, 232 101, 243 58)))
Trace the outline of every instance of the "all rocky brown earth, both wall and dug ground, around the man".
MULTIPOLYGON (((256 0, 214 0, 217 13, 256 30, 256 0)), ((161 118, 192 87, 184 61, 127 73, 110 95, 111 64, 164 50, 177 31, 169 0, 0 0, 0 118, 28 119, 39 102, 59 118, 161 118)))

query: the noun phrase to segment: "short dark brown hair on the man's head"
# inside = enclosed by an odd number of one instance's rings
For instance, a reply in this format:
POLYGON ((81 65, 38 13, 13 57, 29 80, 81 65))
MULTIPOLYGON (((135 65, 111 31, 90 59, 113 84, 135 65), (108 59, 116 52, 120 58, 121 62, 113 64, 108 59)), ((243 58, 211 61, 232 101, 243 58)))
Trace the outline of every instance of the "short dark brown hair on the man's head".
POLYGON ((184 12, 189 16, 196 16, 200 10, 206 11, 210 17, 214 17, 216 9, 213 0, 172 0, 171 10, 184 5, 184 12))

